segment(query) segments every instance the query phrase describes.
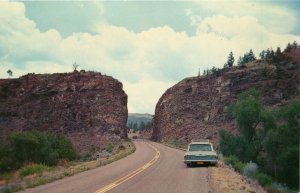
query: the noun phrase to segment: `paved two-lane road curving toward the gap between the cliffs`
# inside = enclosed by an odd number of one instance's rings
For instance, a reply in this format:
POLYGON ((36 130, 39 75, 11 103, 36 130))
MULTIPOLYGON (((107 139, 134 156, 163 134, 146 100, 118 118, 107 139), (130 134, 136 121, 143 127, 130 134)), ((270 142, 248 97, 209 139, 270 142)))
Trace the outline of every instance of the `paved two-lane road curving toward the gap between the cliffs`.
POLYGON ((23 193, 208 193, 207 168, 187 168, 184 152, 149 141, 134 141, 135 153, 23 193))

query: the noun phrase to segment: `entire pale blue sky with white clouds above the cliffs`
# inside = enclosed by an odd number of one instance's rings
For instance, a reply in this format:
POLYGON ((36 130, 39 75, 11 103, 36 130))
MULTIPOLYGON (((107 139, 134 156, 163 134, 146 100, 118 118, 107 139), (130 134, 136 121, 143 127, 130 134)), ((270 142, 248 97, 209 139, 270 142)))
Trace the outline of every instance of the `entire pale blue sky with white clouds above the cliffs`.
POLYGON ((130 113, 154 114, 186 77, 253 49, 300 42, 299 0, 0 1, 0 78, 79 69, 123 83, 130 113))

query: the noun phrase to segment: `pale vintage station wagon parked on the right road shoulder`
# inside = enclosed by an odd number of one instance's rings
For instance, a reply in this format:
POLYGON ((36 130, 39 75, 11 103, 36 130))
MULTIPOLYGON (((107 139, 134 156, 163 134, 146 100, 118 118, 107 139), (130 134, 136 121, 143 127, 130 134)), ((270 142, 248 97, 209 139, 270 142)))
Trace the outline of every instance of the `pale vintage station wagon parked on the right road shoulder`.
POLYGON ((187 167, 194 165, 217 165, 218 155, 209 140, 192 140, 184 155, 184 163, 187 167))

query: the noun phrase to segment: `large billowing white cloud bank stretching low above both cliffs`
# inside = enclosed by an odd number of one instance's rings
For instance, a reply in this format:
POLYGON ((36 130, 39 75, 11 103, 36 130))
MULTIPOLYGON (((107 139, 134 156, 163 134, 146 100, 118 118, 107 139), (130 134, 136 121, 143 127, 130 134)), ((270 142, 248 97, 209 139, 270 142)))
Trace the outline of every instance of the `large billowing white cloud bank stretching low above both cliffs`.
MULTIPOLYGON (((222 8, 223 12, 228 9, 222 8)), ((8 68, 15 77, 29 72, 71 71, 76 61, 81 69, 100 71, 123 82, 130 112, 153 113, 167 88, 197 75, 198 68, 222 67, 231 50, 237 58, 250 49, 257 53, 300 42, 299 36, 287 33, 292 26, 285 33, 277 32, 253 14, 202 17, 187 10, 191 24, 197 27, 195 36, 169 26, 135 33, 98 21, 93 25, 94 34, 73 33, 64 38, 54 29, 40 32, 26 18, 23 3, 1 2, 0 12, 0 77, 7 77, 8 68)), ((281 9, 277 12, 285 13, 281 9)))

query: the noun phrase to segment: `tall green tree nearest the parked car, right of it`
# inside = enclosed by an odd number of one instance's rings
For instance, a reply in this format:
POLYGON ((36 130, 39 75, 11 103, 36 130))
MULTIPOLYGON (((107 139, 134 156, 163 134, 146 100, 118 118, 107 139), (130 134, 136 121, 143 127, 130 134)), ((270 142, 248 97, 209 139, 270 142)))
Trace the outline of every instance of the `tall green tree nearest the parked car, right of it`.
POLYGON ((238 97, 236 104, 229 108, 231 116, 236 118, 240 135, 234 136, 226 131, 220 132, 221 151, 225 155, 236 155, 242 161, 256 161, 261 146, 261 135, 257 126, 262 123, 264 114, 260 93, 250 90, 238 97))

